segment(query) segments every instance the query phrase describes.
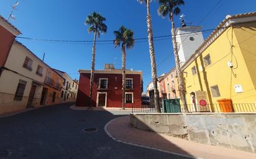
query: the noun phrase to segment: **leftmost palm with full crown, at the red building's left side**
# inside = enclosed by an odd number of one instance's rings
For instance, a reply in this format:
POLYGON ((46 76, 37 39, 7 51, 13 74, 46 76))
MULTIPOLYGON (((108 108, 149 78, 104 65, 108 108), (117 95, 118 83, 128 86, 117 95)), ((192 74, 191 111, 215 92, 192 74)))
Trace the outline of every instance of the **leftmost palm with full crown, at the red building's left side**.
POLYGON ((92 106, 92 95, 93 95, 93 79, 94 79, 94 69, 95 69, 95 48, 96 48, 96 37, 98 34, 98 37, 100 33, 106 33, 107 32, 107 25, 104 24, 104 21, 106 18, 104 18, 101 14, 93 12, 90 15, 88 15, 85 25, 89 25, 88 32, 94 33, 94 39, 93 39, 93 51, 92 51, 92 58, 91 58, 91 78, 90 78, 90 87, 89 87, 89 108, 92 106))

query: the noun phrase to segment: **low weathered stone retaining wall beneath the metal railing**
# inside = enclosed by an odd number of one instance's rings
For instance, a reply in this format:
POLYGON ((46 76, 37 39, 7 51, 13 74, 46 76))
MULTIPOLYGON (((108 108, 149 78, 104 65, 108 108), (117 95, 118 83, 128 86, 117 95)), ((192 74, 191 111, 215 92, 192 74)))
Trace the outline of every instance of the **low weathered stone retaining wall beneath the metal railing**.
POLYGON ((256 153, 256 113, 130 114, 137 129, 256 153))

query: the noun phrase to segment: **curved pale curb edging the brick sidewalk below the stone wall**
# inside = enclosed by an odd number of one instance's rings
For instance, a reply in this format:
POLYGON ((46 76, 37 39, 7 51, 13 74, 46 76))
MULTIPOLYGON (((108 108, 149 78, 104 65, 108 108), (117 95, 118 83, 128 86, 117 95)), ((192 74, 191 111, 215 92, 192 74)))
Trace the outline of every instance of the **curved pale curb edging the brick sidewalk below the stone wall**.
MULTIPOLYGON (((123 118, 124 116, 121 116, 119 118, 123 118)), ((148 146, 144 146, 144 145, 139 145, 139 144, 133 144, 131 142, 125 142, 125 141, 122 141, 122 140, 119 140, 119 139, 116 139, 113 135, 110 134, 110 132, 107 130, 107 127, 109 126, 109 124, 111 124, 112 121, 116 120, 116 119, 119 119, 119 118, 115 118, 115 119, 112 119, 111 121, 107 122, 107 124, 104 126, 104 131, 106 132, 106 134, 113 140, 115 140, 116 142, 121 142, 122 144, 128 144, 128 145, 133 145, 133 146, 136 146, 136 147, 142 147, 142 148, 149 148, 151 150, 157 150, 159 152, 165 152, 165 153, 169 153, 171 155, 177 155, 177 156, 180 156, 180 157, 186 157, 186 158, 194 158, 194 159, 203 159, 203 158, 198 158, 198 157, 193 157, 193 156, 190 156, 190 155, 184 155, 184 154, 181 154, 181 153, 176 153, 176 152, 169 152, 167 150, 162 150, 160 148, 154 148, 154 147, 148 147, 148 146)))

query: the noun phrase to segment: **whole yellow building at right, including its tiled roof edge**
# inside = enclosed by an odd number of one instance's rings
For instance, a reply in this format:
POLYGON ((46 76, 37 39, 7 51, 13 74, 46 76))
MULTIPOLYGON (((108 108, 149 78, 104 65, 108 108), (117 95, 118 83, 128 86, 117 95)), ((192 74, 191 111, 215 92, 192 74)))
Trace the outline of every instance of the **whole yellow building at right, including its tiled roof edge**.
POLYGON ((190 110, 231 99, 234 111, 256 111, 255 41, 256 12, 227 15, 182 67, 190 110))

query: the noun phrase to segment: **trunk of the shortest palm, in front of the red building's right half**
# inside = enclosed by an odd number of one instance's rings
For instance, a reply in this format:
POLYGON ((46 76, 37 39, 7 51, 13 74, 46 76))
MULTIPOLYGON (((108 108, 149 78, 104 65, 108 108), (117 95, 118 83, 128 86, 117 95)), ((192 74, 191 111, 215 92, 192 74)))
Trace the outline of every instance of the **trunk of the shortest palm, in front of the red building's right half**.
POLYGON ((125 109, 126 96, 126 45, 122 44, 122 110, 125 109))

